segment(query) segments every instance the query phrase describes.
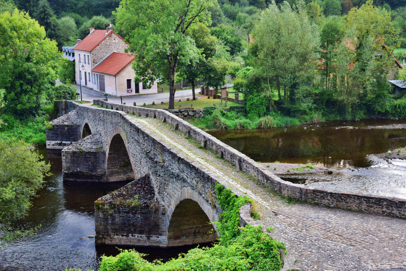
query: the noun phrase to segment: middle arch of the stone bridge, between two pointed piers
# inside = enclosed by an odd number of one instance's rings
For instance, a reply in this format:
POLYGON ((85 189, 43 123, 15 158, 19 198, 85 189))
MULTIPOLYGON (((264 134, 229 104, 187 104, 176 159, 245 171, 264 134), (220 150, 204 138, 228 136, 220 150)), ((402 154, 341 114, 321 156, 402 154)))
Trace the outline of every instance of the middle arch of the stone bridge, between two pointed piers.
POLYGON ((106 175, 110 182, 134 180, 137 173, 127 139, 120 127, 110 133, 106 152, 106 175))

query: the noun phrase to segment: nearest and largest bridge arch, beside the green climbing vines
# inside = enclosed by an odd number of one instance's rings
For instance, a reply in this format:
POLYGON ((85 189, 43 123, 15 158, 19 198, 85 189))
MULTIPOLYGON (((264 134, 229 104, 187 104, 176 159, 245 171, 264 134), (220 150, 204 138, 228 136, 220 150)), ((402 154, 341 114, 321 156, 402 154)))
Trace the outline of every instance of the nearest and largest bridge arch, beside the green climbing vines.
POLYGON ((171 203, 167 213, 168 246, 208 243, 218 238, 214 229, 218 219, 214 209, 196 191, 182 189, 171 203))

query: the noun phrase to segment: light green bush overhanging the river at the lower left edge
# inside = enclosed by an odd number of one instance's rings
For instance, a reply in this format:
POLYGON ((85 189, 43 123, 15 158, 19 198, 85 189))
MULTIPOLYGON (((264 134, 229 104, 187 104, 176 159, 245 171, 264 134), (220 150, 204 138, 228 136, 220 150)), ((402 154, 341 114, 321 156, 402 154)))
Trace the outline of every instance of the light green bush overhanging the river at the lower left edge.
POLYGON ((9 224, 27 214, 32 197, 43 187, 50 164, 42 158, 22 141, 0 139, 0 246, 16 236, 30 233, 13 232, 9 224))

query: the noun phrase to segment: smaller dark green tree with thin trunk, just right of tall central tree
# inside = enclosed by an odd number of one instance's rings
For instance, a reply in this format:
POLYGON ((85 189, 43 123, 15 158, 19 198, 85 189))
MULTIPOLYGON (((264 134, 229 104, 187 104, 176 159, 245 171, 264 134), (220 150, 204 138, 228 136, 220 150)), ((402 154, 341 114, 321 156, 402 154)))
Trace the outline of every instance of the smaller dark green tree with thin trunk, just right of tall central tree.
POLYGON ((197 23, 190 29, 190 37, 194 39, 196 47, 201 50, 201 59, 181 67, 179 75, 192 84, 192 96, 193 100, 196 100, 194 80, 205 76, 207 72, 207 59, 212 58, 216 54, 218 40, 216 37, 210 36, 209 28, 202 23, 197 23))

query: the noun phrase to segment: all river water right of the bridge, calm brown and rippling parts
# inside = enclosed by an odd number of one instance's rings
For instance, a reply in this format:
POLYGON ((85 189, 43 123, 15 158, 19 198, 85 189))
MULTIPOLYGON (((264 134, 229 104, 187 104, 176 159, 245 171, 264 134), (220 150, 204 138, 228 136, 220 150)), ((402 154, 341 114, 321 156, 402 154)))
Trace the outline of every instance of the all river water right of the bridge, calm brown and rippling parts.
POLYGON ((289 182, 313 188, 406 198, 406 160, 395 159, 388 164, 371 155, 405 147, 406 129, 366 129, 367 126, 396 126, 405 121, 343 122, 322 123, 318 127, 307 125, 207 132, 257 162, 311 163, 339 169, 332 175, 279 175, 289 182))

